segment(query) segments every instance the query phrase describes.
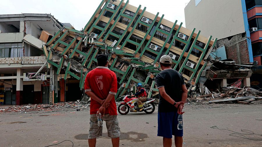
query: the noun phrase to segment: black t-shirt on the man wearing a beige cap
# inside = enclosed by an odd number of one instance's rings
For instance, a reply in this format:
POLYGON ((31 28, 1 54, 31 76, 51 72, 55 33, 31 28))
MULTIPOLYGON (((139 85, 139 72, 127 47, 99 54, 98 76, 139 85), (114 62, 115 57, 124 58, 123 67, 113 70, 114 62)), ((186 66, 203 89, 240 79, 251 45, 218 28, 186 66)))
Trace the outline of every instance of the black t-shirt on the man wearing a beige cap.
MULTIPOLYGON (((156 76, 157 88, 164 87, 167 95, 174 101, 178 102, 182 99, 182 88, 185 84, 183 76, 174 69, 162 70, 156 76)), ((166 101, 159 93, 158 112, 175 112, 176 107, 166 101)))

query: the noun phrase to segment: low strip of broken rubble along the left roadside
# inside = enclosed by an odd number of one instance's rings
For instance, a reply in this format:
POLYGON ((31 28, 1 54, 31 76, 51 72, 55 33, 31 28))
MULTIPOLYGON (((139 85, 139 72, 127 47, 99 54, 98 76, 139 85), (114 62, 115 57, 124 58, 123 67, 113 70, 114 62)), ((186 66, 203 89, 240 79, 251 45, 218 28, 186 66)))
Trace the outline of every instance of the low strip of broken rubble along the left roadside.
POLYGON ((88 109, 90 104, 86 104, 84 102, 65 102, 65 103, 55 103, 53 105, 49 104, 28 104, 21 106, 11 106, 4 107, 0 109, 0 112, 28 112, 28 111, 58 111, 58 110, 75 110, 75 109, 88 109))

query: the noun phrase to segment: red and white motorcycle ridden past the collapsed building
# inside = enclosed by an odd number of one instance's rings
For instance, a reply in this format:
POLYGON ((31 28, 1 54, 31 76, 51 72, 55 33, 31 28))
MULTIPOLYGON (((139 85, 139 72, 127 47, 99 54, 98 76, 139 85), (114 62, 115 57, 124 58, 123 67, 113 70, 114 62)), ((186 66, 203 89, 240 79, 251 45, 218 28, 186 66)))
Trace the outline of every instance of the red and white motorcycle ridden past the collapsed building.
POLYGON ((155 111, 155 105, 154 100, 155 99, 146 99, 146 101, 143 103, 144 109, 139 111, 140 108, 138 108, 137 105, 137 99, 136 97, 128 98, 128 95, 126 95, 123 98, 123 102, 118 106, 118 112, 121 115, 126 115, 128 112, 146 112, 147 114, 151 114, 155 111))

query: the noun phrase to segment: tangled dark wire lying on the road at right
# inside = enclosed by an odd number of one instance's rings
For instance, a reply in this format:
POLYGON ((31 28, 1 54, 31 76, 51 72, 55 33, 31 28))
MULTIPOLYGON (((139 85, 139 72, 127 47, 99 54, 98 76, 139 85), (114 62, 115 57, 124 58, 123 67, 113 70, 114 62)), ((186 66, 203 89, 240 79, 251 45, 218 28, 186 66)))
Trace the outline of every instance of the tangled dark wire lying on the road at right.
MULTIPOLYGON (((213 126, 213 127, 210 127, 210 128, 218 129, 218 130, 228 130, 228 129, 219 129, 217 126, 213 126)), ((228 131, 231 131, 231 130, 228 130, 228 131)), ((259 135, 259 136, 262 136, 261 134, 256 134, 256 133, 254 133, 251 130, 241 130, 241 132, 244 132, 244 133, 238 133, 238 132, 235 132, 235 131, 231 131, 231 132, 234 132, 234 133, 229 134, 229 136, 241 137, 241 138, 250 139, 250 140, 253 140, 253 141, 262 141, 262 138, 254 139, 254 138, 246 137, 245 135, 259 135)))

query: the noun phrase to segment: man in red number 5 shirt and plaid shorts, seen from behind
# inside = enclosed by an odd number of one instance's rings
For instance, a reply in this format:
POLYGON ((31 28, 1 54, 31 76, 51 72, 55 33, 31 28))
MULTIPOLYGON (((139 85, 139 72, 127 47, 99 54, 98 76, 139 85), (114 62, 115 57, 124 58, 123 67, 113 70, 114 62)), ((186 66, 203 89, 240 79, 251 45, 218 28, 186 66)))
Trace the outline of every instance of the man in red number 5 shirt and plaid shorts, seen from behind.
POLYGON ((98 55, 97 62, 98 67, 91 70, 85 79, 85 92, 91 97, 88 144, 90 147, 95 147, 96 138, 102 136, 103 127, 98 126, 96 117, 98 113, 101 113, 102 120, 106 122, 112 145, 118 147, 120 128, 114 99, 117 92, 116 74, 107 68, 108 58, 105 54, 98 55))

